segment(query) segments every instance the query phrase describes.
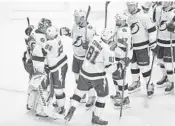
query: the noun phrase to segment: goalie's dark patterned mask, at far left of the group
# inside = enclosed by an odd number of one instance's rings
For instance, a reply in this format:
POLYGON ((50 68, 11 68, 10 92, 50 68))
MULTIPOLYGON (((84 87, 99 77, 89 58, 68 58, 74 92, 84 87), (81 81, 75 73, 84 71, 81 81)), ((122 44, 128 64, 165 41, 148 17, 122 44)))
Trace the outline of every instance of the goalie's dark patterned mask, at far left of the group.
POLYGON ((38 23, 38 30, 42 33, 46 33, 47 28, 50 26, 52 26, 51 20, 42 18, 38 23))

